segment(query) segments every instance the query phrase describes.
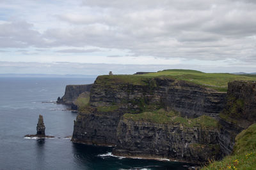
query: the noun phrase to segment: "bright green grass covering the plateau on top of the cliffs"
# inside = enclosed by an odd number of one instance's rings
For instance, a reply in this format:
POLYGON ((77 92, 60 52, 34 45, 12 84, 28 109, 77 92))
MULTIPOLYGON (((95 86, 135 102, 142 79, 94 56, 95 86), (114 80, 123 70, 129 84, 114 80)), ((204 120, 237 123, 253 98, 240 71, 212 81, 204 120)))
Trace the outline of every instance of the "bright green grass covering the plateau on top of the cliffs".
MULTIPOLYGON (((203 73, 201 71, 195 71, 190 69, 168 69, 164 71, 158 71, 157 73, 148 73, 140 75, 113 75, 113 76, 100 76, 100 83, 122 82, 131 83, 134 85, 147 85, 147 80, 150 80, 157 76, 164 76, 173 78, 176 80, 185 80, 209 87, 211 89, 218 90, 220 92, 227 91, 227 85, 229 81, 234 80, 251 80, 255 81, 256 76, 236 75, 229 73, 203 73), (111 80, 111 81, 106 81, 111 80)), ((110 84, 109 84, 110 85, 110 84)))

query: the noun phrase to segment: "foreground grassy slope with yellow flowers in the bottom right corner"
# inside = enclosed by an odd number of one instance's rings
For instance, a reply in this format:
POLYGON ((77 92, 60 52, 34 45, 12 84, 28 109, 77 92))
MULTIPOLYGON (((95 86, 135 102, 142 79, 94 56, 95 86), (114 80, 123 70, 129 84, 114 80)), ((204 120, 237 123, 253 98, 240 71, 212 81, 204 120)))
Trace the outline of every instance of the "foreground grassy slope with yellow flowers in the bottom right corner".
POLYGON ((237 135, 232 155, 213 161, 202 169, 256 169, 256 124, 237 135))

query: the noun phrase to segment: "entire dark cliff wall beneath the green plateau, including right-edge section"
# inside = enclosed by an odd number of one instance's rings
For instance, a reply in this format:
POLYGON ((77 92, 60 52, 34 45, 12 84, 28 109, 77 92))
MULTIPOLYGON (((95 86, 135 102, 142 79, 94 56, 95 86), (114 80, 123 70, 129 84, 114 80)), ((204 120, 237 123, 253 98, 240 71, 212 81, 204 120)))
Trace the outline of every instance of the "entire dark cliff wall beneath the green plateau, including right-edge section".
POLYGON ((127 157, 207 162, 230 153, 236 134, 255 122, 255 99, 255 83, 248 81, 218 92, 168 77, 99 76, 72 141, 115 146, 115 155, 127 157), (157 110, 164 110, 163 120, 157 110), (238 124, 225 119, 235 116, 238 124))

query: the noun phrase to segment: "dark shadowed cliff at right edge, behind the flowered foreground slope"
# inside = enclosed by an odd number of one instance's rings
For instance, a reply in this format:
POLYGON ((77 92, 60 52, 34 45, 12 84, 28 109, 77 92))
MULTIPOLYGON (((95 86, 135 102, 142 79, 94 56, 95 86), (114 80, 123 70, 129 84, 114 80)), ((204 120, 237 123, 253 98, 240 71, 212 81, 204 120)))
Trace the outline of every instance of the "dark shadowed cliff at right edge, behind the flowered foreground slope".
POLYGON ((256 82, 228 83, 227 104, 220 113, 219 138, 223 155, 232 152, 239 132, 256 122, 256 82))

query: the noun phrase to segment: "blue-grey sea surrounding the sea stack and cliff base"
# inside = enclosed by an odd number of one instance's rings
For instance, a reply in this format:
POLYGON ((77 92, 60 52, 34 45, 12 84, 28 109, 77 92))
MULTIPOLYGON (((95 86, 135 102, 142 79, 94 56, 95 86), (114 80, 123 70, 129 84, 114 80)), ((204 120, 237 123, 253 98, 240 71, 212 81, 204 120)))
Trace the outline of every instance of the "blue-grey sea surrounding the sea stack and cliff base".
POLYGON ((186 169, 180 162, 111 157, 111 148, 70 142, 77 113, 55 103, 68 84, 94 78, 1 78, 0 169, 186 169), (25 139, 36 133, 38 115, 53 139, 25 139))

